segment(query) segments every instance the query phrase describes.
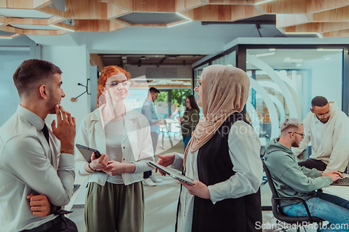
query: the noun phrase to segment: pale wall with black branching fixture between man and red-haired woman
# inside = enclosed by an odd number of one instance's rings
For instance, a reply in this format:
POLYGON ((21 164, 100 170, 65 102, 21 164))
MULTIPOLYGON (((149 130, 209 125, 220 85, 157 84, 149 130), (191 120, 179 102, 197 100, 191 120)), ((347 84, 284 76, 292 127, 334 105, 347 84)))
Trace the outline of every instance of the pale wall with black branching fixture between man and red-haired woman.
MULTIPOLYGON (((90 113, 90 96, 85 93, 75 102, 71 102, 70 98, 76 98, 86 90, 83 86, 78 86, 77 83, 86 85, 87 78, 89 78, 89 52, 87 52, 85 45, 76 47, 43 46, 42 54, 44 60, 59 66, 63 72, 61 75, 62 88, 66 97, 62 98, 61 105, 75 117, 78 128, 82 118, 90 113)), ((46 121, 51 123, 53 119, 54 115, 47 116, 46 121)))

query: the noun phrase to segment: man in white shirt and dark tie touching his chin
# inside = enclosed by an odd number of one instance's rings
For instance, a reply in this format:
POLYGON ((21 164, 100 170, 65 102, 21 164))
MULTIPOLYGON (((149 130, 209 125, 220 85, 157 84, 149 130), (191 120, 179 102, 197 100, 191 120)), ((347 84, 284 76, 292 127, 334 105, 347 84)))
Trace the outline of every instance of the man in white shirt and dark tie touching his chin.
POLYGON ((77 231, 61 206, 73 195, 75 118, 59 104, 61 70, 24 61, 13 82, 17 111, 0 127, 0 231, 77 231), (46 125, 47 114, 57 114, 46 125), (64 212, 63 212, 64 213, 64 212))

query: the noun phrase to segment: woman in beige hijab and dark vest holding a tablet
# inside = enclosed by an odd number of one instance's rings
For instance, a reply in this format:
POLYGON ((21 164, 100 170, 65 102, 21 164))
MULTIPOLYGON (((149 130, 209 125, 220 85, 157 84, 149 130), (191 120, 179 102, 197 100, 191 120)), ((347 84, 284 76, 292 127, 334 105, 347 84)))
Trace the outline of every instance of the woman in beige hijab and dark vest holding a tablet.
POLYGON ((204 117, 184 155, 158 155, 158 164, 184 168, 184 175, 194 180, 193 185, 181 183, 177 231, 261 231, 260 142, 239 113, 249 87, 239 68, 205 68, 194 89, 204 117))

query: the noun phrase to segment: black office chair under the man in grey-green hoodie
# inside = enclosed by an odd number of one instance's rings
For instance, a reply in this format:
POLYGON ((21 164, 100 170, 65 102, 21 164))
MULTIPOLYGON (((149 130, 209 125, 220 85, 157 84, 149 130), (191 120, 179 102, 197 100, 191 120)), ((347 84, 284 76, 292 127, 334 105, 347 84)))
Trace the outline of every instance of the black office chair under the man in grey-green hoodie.
MULTIPOLYGON (((300 197, 280 197, 278 192, 276 192, 276 188, 274 186, 272 176, 270 175, 269 169, 267 168, 267 165, 265 165, 264 160, 262 160, 262 164, 263 164, 263 169, 264 169, 265 173, 267 174, 267 181, 268 181, 270 190, 272 190, 272 211, 273 211, 274 217, 276 217, 276 219, 279 219, 281 222, 287 222, 289 224, 302 225, 302 222, 308 222, 308 224, 313 224, 313 222, 315 222, 318 224, 317 231, 320 231, 320 229, 322 227, 322 222, 325 220, 318 218, 318 217, 311 217, 310 212, 309 212, 309 208, 306 205, 306 202, 302 198, 300 198, 300 197), (285 215, 283 212, 281 212, 279 210, 280 201, 282 201, 282 200, 301 201, 306 208, 306 212, 308 213, 308 217, 289 217, 288 215, 285 215)), ((301 227, 303 227, 303 226, 301 226, 301 227)), ((300 230, 299 226, 297 226, 297 232, 299 232, 299 230, 300 230)))

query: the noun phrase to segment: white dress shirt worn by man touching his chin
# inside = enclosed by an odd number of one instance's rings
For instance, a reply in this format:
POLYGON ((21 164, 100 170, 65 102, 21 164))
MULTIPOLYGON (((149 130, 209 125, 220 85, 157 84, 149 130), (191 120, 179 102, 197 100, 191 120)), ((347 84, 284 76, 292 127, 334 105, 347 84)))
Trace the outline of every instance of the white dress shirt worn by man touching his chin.
POLYGON ((44 123, 19 105, 0 127, 0 231, 33 229, 57 217, 34 216, 26 199, 31 193, 44 194, 54 206, 65 206, 73 195, 74 156, 61 153, 50 125, 47 144, 44 123))

